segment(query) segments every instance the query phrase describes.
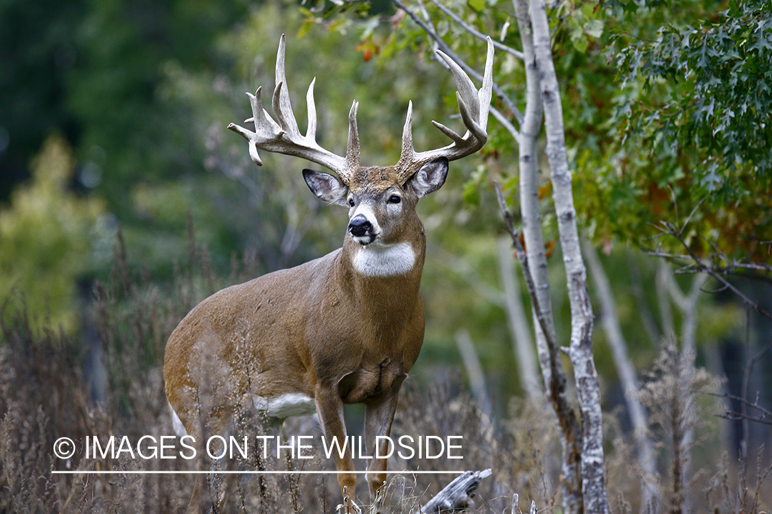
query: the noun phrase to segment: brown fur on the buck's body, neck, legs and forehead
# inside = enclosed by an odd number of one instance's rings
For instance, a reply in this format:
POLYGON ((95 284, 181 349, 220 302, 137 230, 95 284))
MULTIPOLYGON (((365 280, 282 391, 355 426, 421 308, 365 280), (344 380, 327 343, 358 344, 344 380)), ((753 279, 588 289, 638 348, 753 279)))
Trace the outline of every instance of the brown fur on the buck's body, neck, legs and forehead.
MULTIPOLYGON (((362 276, 352 265, 361 247, 347 233, 342 248, 219 291, 180 322, 166 347, 164 378, 189 434, 200 437, 202 425, 222 432, 238 402, 251 405, 252 396, 302 393, 316 401, 328 441, 346 435, 343 404, 366 404, 365 438, 374 455, 375 436, 389 435, 399 389, 424 336, 418 193, 395 180, 393 168, 360 168, 350 190, 374 202, 384 243, 410 244, 415 264, 408 273, 362 276), (386 198, 394 193, 401 195, 401 213, 389 217, 386 198)), ((354 470, 350 451, 335 459, 338 470, 354 470)), ((385 469, 385 459, 371 461, 371 497, 385 469)), ((356 475, 338 475, 338 482, 354 498, 356 475)), ((201 485, 189 510, 201 505, 201 485)))

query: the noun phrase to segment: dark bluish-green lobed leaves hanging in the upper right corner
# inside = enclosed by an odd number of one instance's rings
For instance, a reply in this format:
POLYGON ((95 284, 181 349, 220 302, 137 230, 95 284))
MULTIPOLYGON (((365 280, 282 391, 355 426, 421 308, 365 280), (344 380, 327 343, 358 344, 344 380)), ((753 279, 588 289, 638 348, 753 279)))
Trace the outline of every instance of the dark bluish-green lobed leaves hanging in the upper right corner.
POLYGON ((717 21, 664 25, 655 41, 626 42, 616 54, 622 84, 643 81, 651 93, 665 80, 661 104, 628 102, 621 119, 630 130, 662 136, 678 151, 699 151, 699 186, 726 200, 735 176, 752 173, 767 189, 772 173, 772 3, 730 2, 717 21))

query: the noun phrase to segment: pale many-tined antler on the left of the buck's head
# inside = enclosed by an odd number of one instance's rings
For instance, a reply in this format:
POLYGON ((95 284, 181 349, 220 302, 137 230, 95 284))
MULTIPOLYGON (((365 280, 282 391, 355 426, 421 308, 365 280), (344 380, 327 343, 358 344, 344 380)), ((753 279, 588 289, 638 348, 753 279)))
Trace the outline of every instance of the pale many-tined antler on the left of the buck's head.
POLYGON ((228 128, 241 134, 249 142, 249 156, 258 166, 262 166, 258 149, 266 152, 284 153, 286 155, 301 157, 313 163, 325 166, 340 176, 344 183, 348 183, 350 177, 359 167, 359 134, 357 133, 357 106, 354 101, 348 114, 348 145, 346 156, 341 157, 323 149, 317 143, 317 109, 313 102, 313 84, 311 81, 306 93, 308 106, 308 127, 306 135, 300 134, 292 105, 289 102, 289 89, 286 86, 284 71, 284 54, 286 38, 282 34, 279 39, 279 52, 276 55, 276 89, 273 91, 273 113, 276 121, 271 118, 266 109, 262 108, 262 87, 259 87, 254 95, 247 92, 249 102, 252 104, 252 117, 245 119, 244 123, 255 123, 255 132, 231 123, 228 128))

